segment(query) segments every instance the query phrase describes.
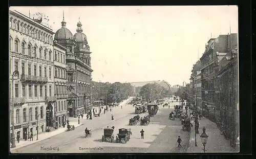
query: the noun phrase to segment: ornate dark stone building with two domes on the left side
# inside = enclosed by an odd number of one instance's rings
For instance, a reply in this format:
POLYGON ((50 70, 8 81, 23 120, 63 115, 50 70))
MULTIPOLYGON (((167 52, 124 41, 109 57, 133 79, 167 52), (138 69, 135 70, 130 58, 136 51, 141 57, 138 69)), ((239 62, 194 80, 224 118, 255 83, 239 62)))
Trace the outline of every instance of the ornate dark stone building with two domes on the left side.
POLYGON ((67 48, 67 109, 69 117, 78 117, 87 112, 91 99, 92 72, 90 47, 87 37, 82 33, 82 24, 77 24, 77 33, 73 34, 66 28, 66 21, 56 31, 54 39, 67 48), (86 105, 87 104, 87 105, 86 105))

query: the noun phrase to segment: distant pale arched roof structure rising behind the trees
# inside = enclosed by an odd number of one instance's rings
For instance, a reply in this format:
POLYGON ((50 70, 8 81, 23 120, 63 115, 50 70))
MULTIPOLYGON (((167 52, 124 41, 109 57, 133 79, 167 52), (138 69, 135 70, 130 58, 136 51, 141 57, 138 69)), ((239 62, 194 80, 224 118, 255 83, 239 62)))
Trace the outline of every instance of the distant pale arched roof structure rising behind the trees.
POLYGON ((146 82, 131 82, 132 86, 134 87, 134 95, 138 95, 139 92, 140 92, 140 89, 143 85, 146 85, 146 84, 153 84, 153 83, 157 83, 161 86, 163 86, 164 88, 166 89, 169 89, 169 90, 172 90, 172 87, 170 86, 170 84, 164 80, 158 80, 158 81, 146 81, 146 82))

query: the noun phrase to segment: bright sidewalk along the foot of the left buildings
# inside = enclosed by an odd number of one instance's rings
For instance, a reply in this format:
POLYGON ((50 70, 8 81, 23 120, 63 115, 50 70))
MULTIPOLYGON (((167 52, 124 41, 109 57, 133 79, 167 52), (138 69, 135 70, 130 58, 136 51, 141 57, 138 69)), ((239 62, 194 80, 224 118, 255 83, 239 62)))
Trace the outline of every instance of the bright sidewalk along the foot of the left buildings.
MULTIPOLYGON (((70 122, 70 125, 74 125, 75 127, 78 127, 78 126, 81 126, 83 124, 79 124, 78 125, 77 122, 70 122)), ((31 144, 37 143, 39 141, 51 138, 51 137, 53 137, 53 136, 55 136, 57 134, 65 132, 66 130, 67 130, 67 126, 65 128, 59 127, 58 129, 56 129, 54 131, 51 131, 51 132, 41 132, 41 133, 38 134, 38 140, 36 140, 36 135, 34 135, 33 141, 30 141, 30 139, 28 139, 27 141, 20 140, 19 143, 18 143, 17 140, 15 139, 16 147, 15 148, 10 148, 10 150, 15 150, 15 149, 27 146, 27 145, 31 145, 31 144)))

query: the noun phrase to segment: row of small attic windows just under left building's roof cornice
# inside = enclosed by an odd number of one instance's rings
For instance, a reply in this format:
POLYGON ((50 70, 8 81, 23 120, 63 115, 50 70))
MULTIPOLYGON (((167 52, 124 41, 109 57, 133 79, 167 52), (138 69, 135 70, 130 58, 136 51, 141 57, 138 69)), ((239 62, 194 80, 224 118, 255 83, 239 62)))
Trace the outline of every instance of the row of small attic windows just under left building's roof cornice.
POLYGON ((52 41, 53 41, 52 35, 42 32, 38 29, 35 29, 34 27, 29 26, 24 22, 20 22, 15 18, 13 19, 13 17, 10 17, 10 28, 20 31, 34 38, 37 38, 39 40, 42 40, 44 42, 48 42, 52 44, 52 41))

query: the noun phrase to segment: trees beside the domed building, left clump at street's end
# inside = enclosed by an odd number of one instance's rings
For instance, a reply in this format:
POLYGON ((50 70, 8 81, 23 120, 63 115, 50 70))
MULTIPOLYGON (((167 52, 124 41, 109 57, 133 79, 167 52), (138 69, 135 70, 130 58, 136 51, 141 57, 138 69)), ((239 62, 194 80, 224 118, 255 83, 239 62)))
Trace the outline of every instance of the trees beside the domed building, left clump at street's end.
POLYGON ((108 103, 119 103, 133 95, 131 83, 95 82, 92 87, 92 100, 106 99, 108 103))

